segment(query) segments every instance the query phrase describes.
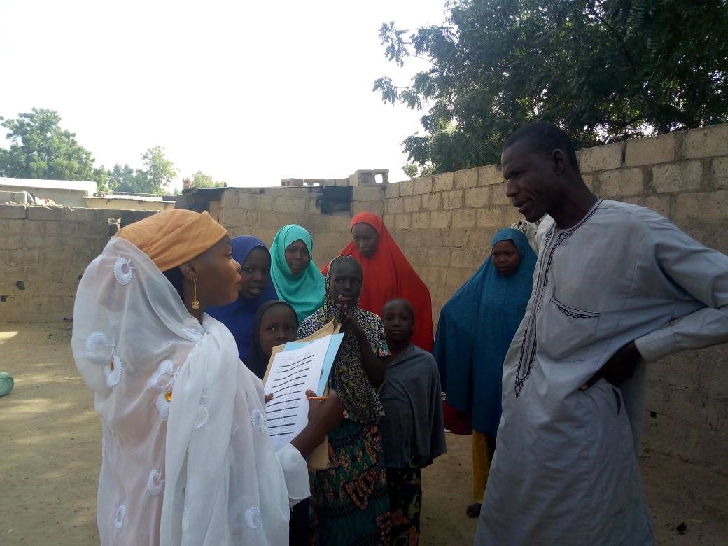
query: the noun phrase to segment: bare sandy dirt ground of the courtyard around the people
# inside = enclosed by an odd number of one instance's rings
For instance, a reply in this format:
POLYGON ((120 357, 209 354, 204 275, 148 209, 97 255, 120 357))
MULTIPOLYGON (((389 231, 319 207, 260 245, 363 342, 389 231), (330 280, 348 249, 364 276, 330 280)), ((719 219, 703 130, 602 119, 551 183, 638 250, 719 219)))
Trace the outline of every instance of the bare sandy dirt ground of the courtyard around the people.
MULTIPOLYGON (((0 398, 0 545, 98 544, 100 424, 70 338, 70 325, 0 324, 0 371, 15 376, 0 398)), ((448 434, 448 450, 424 472, 424 546, 469 545, 475 534, 470 437, 448 434)), ((641 468, 658 544, 728 544, 725 470, 654 452, 641 468)))

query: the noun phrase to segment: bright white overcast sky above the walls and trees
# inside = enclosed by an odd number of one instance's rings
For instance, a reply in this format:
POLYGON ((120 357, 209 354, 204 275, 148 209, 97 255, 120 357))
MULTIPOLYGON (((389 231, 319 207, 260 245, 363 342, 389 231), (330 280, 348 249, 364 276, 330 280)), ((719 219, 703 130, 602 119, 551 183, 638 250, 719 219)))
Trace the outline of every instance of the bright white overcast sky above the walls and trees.
POLYGON ((58 111, 97 166, 140 167, 159 144, 180 179, 277 186, 384 168, 399 181, 422 112, 371 90, 422 64, 389 63, 379 27, 442 23, 444 3, 2 1, 0 116, 58 111))

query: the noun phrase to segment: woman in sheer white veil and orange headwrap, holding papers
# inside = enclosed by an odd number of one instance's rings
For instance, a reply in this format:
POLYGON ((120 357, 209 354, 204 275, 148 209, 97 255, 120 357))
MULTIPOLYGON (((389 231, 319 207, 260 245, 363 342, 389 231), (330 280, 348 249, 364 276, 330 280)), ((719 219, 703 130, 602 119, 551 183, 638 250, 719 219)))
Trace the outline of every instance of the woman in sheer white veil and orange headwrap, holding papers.
POLYGON ((172 210, 112 237, 76 295, 72 347, 103 424, 102 545, 285 545, 309 496, 304 456, 341 420, 338 397, 277 453, 261 381, 204 313, 240 289, 225 229, 172 210))

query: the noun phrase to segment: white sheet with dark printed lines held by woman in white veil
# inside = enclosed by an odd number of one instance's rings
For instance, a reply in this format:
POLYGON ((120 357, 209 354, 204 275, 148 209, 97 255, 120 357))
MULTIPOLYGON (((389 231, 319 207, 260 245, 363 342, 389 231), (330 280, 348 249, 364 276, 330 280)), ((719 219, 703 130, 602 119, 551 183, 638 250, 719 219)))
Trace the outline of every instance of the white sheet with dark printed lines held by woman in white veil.
POLYGON ((308 423, 306 389, 317 390, 330 339, 320 339, 301 349, 278 352, 266 374, 266 422, 273 448, 278 451, 296 438, 308 423))

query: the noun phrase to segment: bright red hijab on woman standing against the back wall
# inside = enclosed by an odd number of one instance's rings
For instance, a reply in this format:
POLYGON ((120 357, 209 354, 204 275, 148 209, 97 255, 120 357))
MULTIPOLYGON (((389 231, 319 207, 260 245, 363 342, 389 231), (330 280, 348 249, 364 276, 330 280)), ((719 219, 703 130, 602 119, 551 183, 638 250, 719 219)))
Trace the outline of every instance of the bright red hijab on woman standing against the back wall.
MULTIPOLYGON (((432 299, 430 290, 405 258, 392 239, 381 217, 374 213, 358 213, 352 218, 352 229, 357 223, 368 223, 376 230, 379 245, 371 258, 364 258, 354 242, 349 242, 339 256, 348 254, 357 258, 363 269, 362 293, 359 306, 381 316, 381 308, 390 299, 404 298, 414 307, 415 326, 412 343, 432 352, 432 299)), ((327 274, 328 265, 321 270, 327 274)))

